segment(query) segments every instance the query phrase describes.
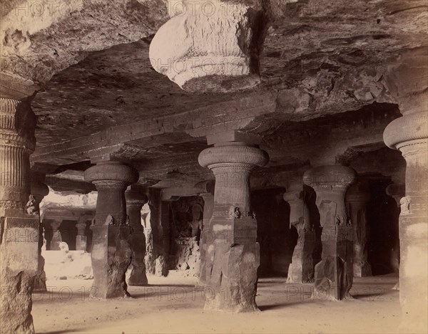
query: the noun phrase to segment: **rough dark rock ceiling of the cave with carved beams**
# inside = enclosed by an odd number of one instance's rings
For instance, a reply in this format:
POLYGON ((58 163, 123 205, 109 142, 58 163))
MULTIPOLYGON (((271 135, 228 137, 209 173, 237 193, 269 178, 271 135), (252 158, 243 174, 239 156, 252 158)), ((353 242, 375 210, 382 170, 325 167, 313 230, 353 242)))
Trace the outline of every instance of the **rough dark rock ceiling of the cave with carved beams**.
POLYGON ((21 20, 14 11, 26 1, 8 4, 1 75, 21 94, 39 90, 32 159, 48 172, 82 169, 108 154, 147 177, 152 169, 154 179, 180 168, 206 177, 194 158, 204 136, 223 128, 262 136, 272 170, 352 160, 384 147, 382 131, 399 117, 385 88, 387 67, 427 46, 424 0, 270 0, 260 85, 188 93, 154 71, 148 57, 168 20, 166 1, 76 0, 21 20))

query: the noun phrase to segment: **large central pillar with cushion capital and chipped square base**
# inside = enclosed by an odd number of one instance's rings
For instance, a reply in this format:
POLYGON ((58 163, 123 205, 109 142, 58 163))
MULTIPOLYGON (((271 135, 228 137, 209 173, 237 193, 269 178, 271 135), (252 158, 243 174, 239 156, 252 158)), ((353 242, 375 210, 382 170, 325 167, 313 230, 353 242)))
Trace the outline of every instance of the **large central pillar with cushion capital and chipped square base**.
POLYGON ((250 205, 250 172, 266 165, 268 156, 238 140, 213 143, 214 147, 199 155, 199 164, 215 176, 213 217, 208 226, 212 238, 207 240, 205 254, 206 285, 215 296, 205 301, 205 309, 251 312, 258 310, 260 254, 257 221, 250 205))

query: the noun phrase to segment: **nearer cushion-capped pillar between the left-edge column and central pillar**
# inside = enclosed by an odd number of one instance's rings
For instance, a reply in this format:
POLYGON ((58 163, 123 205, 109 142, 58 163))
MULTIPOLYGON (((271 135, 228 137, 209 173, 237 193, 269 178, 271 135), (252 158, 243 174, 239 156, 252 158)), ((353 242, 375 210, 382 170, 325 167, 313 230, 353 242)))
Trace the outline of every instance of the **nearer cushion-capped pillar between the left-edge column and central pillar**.
POLYGON ((93 286, 91 296, 128 296, 125 273, 131 263, 130 226, 126 225, 125 190, 138 172, 120 162, 98 162, 85 171, 86 182, 98 190, 95 224, 91 226, 93 286))

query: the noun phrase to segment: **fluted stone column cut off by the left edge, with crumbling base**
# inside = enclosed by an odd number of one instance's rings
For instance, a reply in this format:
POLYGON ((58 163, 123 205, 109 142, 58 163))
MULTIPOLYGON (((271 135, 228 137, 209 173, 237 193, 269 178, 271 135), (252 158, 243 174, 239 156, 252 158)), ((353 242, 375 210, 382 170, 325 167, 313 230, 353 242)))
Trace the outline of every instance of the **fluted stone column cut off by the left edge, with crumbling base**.
POLYGON ((34 333, 31 293, 39 271, 40 217, 30 194, 36 115, 0 98, 0 323, 2 333, 34 333))

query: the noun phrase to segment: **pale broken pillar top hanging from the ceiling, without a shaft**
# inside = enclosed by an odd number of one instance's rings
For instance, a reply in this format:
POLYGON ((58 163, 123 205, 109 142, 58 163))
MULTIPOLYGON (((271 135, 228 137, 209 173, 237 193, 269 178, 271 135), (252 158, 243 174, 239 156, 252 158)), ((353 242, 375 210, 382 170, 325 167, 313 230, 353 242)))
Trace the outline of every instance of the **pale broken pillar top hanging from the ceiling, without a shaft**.
POLYGON ((189 92, 230 92, 260 83, 259 53, 265 38, 262 1, 180 1, 151 41, 158 73, 189 92))

